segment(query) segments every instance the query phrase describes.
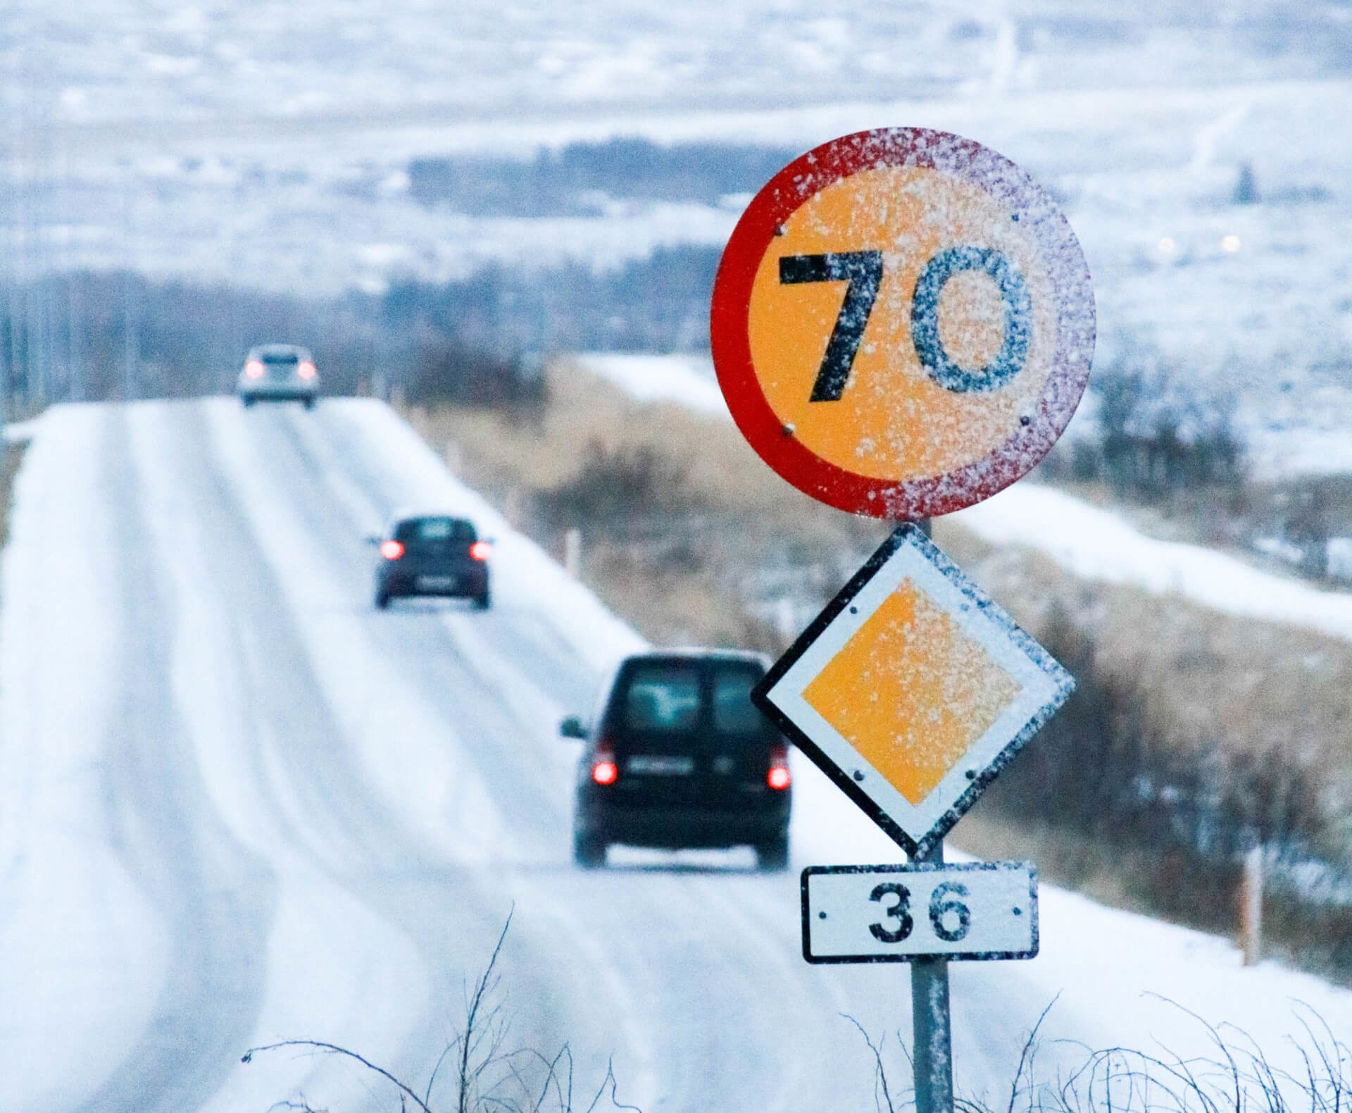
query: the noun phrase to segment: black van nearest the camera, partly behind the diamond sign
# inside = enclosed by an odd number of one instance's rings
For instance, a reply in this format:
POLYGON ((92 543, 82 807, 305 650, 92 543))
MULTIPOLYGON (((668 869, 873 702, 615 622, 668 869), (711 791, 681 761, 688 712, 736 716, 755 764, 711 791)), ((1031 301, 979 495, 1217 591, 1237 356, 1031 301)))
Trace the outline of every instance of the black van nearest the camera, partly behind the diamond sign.
POLYGON ((763 870, 788 866, 788 747, 750 702, 758 653, 660 650, 626 657, 604 687, 577 765, 573 860, 604 864, 611 843, 750 844, 763 870))

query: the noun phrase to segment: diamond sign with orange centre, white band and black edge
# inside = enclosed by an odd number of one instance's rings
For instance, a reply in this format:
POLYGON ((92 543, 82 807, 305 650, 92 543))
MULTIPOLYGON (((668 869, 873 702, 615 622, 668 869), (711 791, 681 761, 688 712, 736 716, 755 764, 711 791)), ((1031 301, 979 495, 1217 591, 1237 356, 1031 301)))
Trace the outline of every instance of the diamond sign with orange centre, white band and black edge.
POLYGON ((752 701, 883 830, 925 855, 1073 688, 907 523, 752 701))

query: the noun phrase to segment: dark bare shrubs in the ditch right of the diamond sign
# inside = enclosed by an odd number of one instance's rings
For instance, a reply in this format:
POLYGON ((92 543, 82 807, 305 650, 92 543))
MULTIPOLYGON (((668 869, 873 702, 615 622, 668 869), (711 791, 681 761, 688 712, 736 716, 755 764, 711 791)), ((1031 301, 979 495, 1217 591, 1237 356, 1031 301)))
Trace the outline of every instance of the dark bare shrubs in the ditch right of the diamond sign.
MULTIPOLYGON (((1152 866, 1137 878, 1148 903, 1213 929, 1234 922, 1249 847, 1294 863, 1328 841, 1318 778, 1297 757, 1218 741, 1180 748, 1152 717, 1148 690, 1102 668, 1094 640, 1063 607, 1053 605, 1038 633, 1076 691, 992 786, 986 809, 1148 855, 1152 866)), ((1294 911, 1286 922, 1295 925, 1294 911)))

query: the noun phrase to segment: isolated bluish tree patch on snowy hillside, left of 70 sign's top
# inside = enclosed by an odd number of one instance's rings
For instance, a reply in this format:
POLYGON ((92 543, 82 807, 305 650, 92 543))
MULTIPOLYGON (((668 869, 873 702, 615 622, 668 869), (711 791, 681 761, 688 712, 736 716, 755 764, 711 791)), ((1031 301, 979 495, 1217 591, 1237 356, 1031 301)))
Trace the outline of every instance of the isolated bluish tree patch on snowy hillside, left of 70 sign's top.
POLYGON ((607 199, 703 202, 753 193, 800 151, 733 143, 610 139, 541 149, 534 158, 448 156, 408 164, 410 193, 472 216, 594 212, 607 199))

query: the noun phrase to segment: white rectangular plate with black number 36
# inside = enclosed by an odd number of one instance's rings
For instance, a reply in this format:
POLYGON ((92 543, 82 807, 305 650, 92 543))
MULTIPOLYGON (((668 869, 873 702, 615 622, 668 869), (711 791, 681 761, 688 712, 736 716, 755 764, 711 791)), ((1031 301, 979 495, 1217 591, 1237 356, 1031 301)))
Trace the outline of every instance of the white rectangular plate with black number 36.
POLYGON ((1030 861, 810 866, 803 871, 810 963, 1032 959, 1037 870, 1030 861))

